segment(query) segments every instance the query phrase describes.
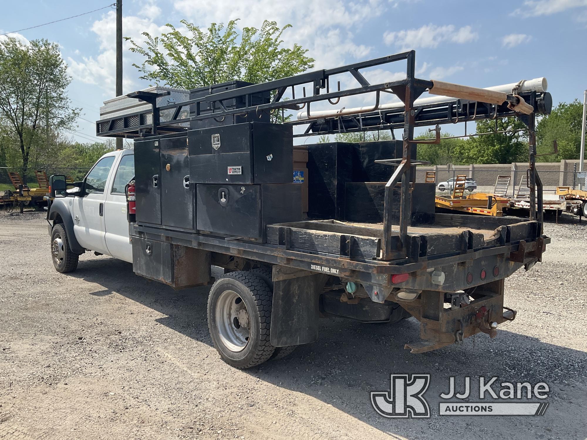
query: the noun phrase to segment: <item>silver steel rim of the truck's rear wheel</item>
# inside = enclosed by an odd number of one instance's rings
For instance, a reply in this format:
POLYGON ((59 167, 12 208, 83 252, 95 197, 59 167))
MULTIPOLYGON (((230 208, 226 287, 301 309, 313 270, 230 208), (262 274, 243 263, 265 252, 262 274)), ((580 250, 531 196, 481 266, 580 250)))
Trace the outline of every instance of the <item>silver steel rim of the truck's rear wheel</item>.
POLYGON ((251 320, 247 306, 234 290, 225 290, 216 305, 218 335, 230 351, 242 351, 251 336, 251 320))

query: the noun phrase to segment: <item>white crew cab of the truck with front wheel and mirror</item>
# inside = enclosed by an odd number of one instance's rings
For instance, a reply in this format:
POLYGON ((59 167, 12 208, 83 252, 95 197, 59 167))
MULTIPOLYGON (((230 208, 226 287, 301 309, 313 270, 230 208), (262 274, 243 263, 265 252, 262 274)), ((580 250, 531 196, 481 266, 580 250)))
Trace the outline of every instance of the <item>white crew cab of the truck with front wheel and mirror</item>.
POLYGON ((133 262, 124 194, 133 177, 134 151, 116 150, 104 154, 73 189, 65 192, 65 178, 53 180, 55 187, 63 185, 61 194, 66 195, 53 199, 47 216, 58 272, 75 270, 85 251, 133 262))

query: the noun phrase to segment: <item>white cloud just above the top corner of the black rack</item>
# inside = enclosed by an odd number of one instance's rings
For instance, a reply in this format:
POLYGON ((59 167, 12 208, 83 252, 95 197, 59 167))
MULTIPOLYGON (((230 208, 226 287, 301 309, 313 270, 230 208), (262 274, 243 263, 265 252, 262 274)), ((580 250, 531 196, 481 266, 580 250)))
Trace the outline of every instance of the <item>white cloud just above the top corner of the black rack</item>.
POLYGON ((454 25, 436 26, 433 24, 424 25, 418 29, 407 29, 403 31, 383 34, 383 42, 386 45, 396 45, 400 50, 417 48, 437 48, 440 43, 468 43, 477 40, 477 32, 473 32, 471 26, 456 28, 454 25))

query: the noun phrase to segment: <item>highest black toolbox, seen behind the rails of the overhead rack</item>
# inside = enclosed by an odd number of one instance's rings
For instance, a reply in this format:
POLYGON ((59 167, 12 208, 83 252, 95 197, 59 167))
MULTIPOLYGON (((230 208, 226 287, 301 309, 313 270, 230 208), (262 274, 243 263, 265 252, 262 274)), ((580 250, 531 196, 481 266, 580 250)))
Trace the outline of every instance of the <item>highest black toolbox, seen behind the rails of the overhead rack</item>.
MULTIPOLYGON (((198 99, 209 94, 225 92, 226 90, 240 89, 241 87, 246 86, 252 86, 252 83, 245 81, 230 81, 221 84, 214 84, 212 86, 198 87, 197 89, 190 90, 190 100, 198 99)), ((251 100, 249 106, 259 106, 261 104, 268 104, 271 97, 269 92, 258 92, 249 95, 249 99, 251 100)), ((222 101, 222 104, 224 104, 227 110, 242 109, 243 107, 246 107, 244 96, 224 100, 222 101)), ((195 116, 196 107, 197 104, 190 104, 190 116, 195 116)), ((218 111, 221 107, 218 103, 208 103, 207 101, 202 101, 200 103, 200 114, 209 114, 212 112, 212 109, 218 111)), ((258 113, 256 111, 249 111, 248 113, 229 114, 218 118, 193 120, 190 121, 190 128, 219 127, 253 121, 268 123, 270 121, 269 111, 259 111, 258 113)))

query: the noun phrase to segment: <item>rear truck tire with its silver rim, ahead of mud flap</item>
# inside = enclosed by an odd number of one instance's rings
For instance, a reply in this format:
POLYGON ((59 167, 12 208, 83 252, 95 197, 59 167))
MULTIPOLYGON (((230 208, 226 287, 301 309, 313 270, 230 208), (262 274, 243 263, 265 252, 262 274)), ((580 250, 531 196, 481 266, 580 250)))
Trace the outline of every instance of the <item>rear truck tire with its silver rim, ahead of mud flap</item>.
POLYGON ((251 368, 271 358, 272 290, 261 277, 237 270, 210 289, 208 329, 222 360, 235 368, 251 368))

